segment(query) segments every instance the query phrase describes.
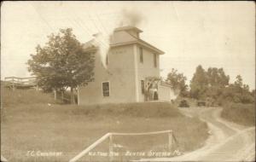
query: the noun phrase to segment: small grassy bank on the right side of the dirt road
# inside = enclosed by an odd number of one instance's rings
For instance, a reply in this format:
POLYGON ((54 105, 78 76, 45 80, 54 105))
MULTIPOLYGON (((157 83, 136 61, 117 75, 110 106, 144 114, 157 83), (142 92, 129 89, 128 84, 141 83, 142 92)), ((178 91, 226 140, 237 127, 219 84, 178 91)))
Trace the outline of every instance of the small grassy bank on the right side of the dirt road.
POLYGON ((255 104, 230 103, 224 106, 221 117, 237 124, 255 126, 255 104))

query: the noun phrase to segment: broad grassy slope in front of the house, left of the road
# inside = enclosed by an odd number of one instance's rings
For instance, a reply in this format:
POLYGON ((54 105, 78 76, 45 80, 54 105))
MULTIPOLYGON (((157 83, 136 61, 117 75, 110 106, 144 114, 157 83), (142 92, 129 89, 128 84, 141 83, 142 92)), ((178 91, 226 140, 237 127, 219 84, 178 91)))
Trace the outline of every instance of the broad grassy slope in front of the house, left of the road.
MULTIPOLYGON (((179 149, 189 151, 207 138, 207 124, 189 119, 169 103, 49 106, 51 96, 34 90, 5 91, 1 149, 9 161, 67 161, 107 132, 174 130, 179 149), (59 157, 26 156, 27 151, 62 152, 59 157)), ((165 148, 167 136, 116 137, 130 149, 165 148)), ((102 148, 105 149, 103 143, 102 148)), ((96 151, 98 151, 96 150, 96 151)), ((161 149, 162 150, 162 149, 161 149)))

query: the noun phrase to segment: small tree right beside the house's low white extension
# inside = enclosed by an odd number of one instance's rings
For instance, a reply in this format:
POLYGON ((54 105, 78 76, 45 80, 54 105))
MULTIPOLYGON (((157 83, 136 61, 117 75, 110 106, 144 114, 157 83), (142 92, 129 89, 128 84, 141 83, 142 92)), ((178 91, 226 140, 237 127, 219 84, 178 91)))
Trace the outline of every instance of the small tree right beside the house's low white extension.
POLYGON ((166 82, 172 86, 173 90, 179 90, 181 96, 187 95, 188 85, 186 84, 187 78, 183 73, 177 73, 177 70, 172 68, 168 73, 166 82))

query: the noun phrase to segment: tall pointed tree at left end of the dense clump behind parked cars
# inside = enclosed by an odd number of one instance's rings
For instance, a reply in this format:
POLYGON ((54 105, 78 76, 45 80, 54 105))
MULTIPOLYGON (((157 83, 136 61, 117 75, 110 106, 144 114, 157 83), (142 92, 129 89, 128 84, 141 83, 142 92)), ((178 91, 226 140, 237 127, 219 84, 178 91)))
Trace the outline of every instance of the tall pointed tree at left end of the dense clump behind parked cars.
POLYGON ((208 86, 207 72, 203 67, 196 67, 194 76, 190 82, 190 95, 195 99, 204 99, 206 97, 208 86))

